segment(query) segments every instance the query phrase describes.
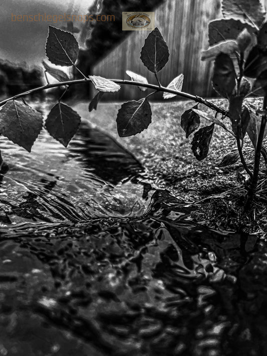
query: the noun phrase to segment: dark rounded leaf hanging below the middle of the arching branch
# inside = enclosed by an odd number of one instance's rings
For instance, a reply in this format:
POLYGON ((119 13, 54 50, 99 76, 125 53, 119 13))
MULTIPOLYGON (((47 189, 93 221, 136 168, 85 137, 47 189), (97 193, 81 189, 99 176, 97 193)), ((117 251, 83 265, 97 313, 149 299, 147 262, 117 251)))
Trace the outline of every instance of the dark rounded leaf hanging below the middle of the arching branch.
POLYGON ((147 99, 124 103, 117 115, 117 129, 120 137, 139 134, 151 123, 151 108, 147 99))

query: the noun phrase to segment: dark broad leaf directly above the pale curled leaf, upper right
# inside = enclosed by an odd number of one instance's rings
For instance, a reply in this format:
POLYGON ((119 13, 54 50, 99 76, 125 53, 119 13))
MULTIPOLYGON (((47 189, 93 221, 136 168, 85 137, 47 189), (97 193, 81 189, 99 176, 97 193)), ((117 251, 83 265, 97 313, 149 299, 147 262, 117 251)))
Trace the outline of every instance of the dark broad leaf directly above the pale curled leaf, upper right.
POLYGON ((245 22, 234 19, 216 19, 208 25, 208 43, 210 46, 225 40, 235 40, 246 29, 250 34, 256 29, 245 22))

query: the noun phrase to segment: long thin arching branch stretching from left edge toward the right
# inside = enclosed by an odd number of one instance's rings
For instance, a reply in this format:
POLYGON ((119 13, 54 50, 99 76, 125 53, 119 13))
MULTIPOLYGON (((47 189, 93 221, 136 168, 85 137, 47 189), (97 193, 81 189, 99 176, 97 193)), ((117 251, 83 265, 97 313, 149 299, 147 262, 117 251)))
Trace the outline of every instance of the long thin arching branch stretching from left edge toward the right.
MULTIPOLYGON (((186 98, 186 99, 190 99, 193 100, 197 103, 203 104, 206 107, 216 111, 217 113, 222 114, 223 116, 227 116, 228 117, 228 111, 220 108, 219 106, 209 102, 208 100, 205 100, 201 97, 198 96, 194 96, 188 93, 184 93, 184 92, 179 92, 177 90, 172 90, 172 89, 168 89, 165 87, 158 87, 157 85, 153 85, 153 84, 145 84, 145 83, 141 83, 141 82, 135 82, 135 81, 130 81, 130 80, 121 80, 121 79, 111 79, 113 82, 117 83, 117 84, 121 84, 121 85, 133 85, 133 86, 138 86, 138 87, 144 87, 144 88, 148 88, 148 89, 152 89, 152 90, 156 90, 156 91, 160 91, 160 92, 166 92, 166 93, 171 93, 171 94, 175 94, 178 95, 180 97, 186 98)), ((4 104, 6 104, 8 101, 10 100, 15 100, 15 99, 19 99, 22 98, 24 96, 36 93, 36 92, 40 92, 42 90, 47 90, 47 89, 51 89, 51 88, 56 88, 56 87, 61 87, 61 86, 69 86, 69 85, 75 85, 75 84, 81 84, 84 82, 92 82, 91 79, 89 78, 85 78, 85 79, 77 79, 77 80, 71 80, 71 81, 66 81, 66 82, 59 82, 59 83, 51 83, 51 84, 47 84, 44 85, 42 87, 38 87, 38 88, 34 88, 31 89, 27 92, 24 93, 20 93, 17 95, 14 95, 11 98, 5 99, 2 102, 0 102, 0 106, 3 106, 4 104)))

